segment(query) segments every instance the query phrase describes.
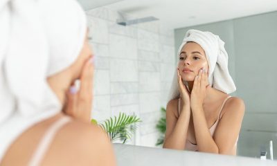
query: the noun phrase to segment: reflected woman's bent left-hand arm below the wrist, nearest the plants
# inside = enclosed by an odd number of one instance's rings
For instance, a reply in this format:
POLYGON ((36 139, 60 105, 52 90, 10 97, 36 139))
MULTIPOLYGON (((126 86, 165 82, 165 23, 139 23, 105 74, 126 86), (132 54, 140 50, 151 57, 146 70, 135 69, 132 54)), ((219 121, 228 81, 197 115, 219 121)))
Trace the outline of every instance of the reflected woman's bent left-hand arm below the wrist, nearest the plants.
POLYGON ((190 122, 190 107, 184 105, 178 118, 175 113, 177 104, 176 100, 170 100, 166 107, 166 136, 163 148, 184 150, 190 122))

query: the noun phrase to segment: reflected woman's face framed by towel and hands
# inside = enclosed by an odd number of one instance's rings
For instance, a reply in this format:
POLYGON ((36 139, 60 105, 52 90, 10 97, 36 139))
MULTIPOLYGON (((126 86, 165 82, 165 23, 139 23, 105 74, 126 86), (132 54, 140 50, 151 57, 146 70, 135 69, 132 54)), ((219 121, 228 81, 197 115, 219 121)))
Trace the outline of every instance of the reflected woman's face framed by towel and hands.
POLYGON ((186 43, 179 55, 178 68, 186 82, 194 81, 201 68, 208 71, 208 61, 203 48, 195 42, 186 43))

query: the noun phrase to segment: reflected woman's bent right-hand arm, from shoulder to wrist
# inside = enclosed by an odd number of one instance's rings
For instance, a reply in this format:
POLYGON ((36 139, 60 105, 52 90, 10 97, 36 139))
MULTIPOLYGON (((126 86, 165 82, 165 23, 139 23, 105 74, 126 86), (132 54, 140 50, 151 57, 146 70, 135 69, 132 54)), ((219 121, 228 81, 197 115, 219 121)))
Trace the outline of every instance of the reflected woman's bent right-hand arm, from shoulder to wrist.
POLYGON ((240 133, 244 116, 244 102, 240 98, 227 100, 220 122, 212 138, 202 108, 193 110, 195 137, 199 151, 230 154, 240 133))

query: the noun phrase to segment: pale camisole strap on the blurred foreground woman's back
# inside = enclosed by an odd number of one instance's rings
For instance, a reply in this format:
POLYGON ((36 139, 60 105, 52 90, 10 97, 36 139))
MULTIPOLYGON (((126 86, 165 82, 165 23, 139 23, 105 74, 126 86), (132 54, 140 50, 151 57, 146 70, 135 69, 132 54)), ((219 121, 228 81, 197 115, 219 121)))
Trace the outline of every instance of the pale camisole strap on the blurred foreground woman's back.
POLYGON ((30 159, 29 166, 36 166, 41 164, 44 155, 50 147, 57 131, 59 131, 64 126, 64 124, 70 121, 71 118, 69 118, 69 116, 64 116, 56 122, 54 122, 51 125, 51 127, 48 130, 46 130, 46 133, 44 134, 42 140, 39 142, 37 149, 35 150, 32 158, 30 159))

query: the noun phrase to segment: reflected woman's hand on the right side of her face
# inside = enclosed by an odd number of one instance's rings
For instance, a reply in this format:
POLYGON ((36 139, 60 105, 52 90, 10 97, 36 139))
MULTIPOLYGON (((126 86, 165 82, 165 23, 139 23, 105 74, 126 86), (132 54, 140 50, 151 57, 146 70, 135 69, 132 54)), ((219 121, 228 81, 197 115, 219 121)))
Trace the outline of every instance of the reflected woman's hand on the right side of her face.
POLYGON ((193 82, 193 90, 190 93, 190 107, 199 109, 203 107, 206 97, 206 89, 208 88, 208 74, 205 69, 201 69, 193 82))

